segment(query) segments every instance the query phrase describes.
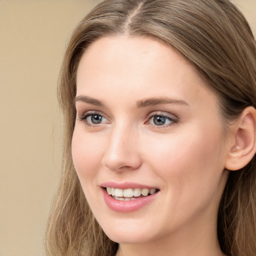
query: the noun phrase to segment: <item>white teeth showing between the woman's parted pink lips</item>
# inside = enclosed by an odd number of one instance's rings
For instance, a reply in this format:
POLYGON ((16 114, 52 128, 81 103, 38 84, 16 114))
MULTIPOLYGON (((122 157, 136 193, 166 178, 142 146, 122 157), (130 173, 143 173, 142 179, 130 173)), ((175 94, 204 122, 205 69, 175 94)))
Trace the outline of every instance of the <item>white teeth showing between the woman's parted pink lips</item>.
POLYGON ((148 195, 154 194, 159 191, 157 188, 114 188, 114 187, 105 187, 107 193, 111 195, 114 199, 120 201, 129 201, 135 200, 137 198, 146 197, 148 195))

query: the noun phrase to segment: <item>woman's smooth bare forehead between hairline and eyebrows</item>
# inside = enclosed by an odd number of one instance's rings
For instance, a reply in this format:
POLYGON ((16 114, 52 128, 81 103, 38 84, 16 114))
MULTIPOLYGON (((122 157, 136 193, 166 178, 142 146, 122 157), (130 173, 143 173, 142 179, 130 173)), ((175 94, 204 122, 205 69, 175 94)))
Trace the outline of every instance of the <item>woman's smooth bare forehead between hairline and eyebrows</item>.
POLYGON ((177 50, 148 37, 102 37, 84 52, 77 70, 77 95, 101 100, 169 96, 199 100, 213 93, 177 50))

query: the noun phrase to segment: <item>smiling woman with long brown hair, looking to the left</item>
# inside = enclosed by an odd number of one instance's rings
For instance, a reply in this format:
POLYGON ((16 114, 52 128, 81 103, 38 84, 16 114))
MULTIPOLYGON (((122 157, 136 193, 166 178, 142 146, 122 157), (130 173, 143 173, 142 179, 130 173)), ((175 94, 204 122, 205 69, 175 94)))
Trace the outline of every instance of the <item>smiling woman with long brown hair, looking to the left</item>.
POLYGON ((58 95, 48 255, 256 255, 256 47, 228 0, 105 0, 58 95))

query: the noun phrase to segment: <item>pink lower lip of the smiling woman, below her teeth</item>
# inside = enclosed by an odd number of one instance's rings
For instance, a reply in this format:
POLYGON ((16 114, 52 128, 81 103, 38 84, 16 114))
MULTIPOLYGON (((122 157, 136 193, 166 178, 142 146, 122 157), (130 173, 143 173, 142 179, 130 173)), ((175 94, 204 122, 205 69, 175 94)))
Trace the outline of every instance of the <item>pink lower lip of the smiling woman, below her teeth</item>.
POLYGON ((111 195, 107 193, 105 188, 102 188, 103 191, 103 197, 106 205, 114 211, 118 212, 131 212, 138 210, 145 206, 146 204, 150 203, 158 194, 158 192, 154 194, 150 194, 145 197, 139 197, 134 200, 129 200, 129 201, 121 201, 121 200, 116 200, 114 199, 111 195))

